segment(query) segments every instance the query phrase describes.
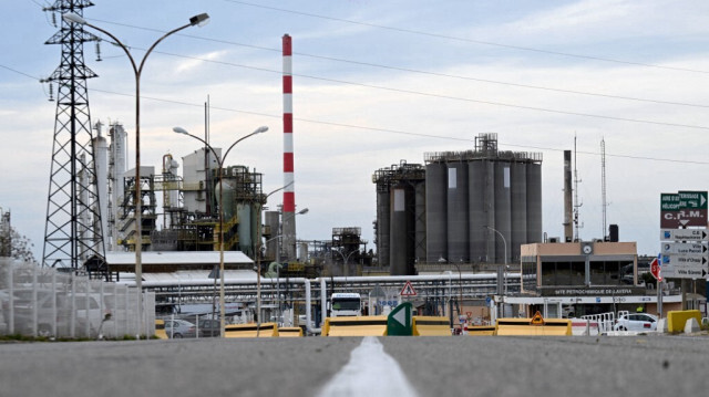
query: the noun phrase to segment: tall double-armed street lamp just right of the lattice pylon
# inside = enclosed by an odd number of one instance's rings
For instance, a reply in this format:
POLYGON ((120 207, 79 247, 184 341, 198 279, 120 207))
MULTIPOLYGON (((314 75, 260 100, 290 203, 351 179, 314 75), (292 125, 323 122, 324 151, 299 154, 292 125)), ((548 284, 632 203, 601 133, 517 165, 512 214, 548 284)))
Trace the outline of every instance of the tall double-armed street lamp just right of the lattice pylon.
MULTIPOLYGON (((155 49, 155 46, 157 46, 157 44, 160 44, 161 41, 165 40, 165 38, 167 38, 171 34, 177 33, 183 29, 187 29, 189 27, 204 27, 205 24, 207 24, 209 22, 209 15, 206 13, 201 13, 198 15, 194 15, 189 19, 189 23, 184 24, 177 29, 173 29, 169 32, 163 34, 163 36, 161 36, 160 39, 157 39, 157 41, 155 41, 153 43, 153 45, 151 45, 151 48, 147 50, 147 52, 145 52, 145 55, 143 55, 143 60, 141 61, 140 66, 136 66, 135 64, 135 60, 133 59, 133 55, 131 55, 131 52, 129 51, 129 49, 121 42, 121 40, 119 40, 115 35, 113 35, 112 33, 110 33, 109 31, 95 27, 91 23, 89 23, 85 19, 83 19, 82 17, 80 17, 76 13, 73 12, 66 12, 63 14, 62 17, 64 19, 64 21, 66 22, 71 22, 71 23, 79 23, 79 24, 83 24, 85 27, 95 29, 104 34, 106 34, 107 36, 110 36, 111 39, 113 39, 116 44, 119 44, 119 46, 121 46, 121 49, 123 50, 123 52, 125 52, 125 54, 129 56, 129 60, 131 61, 131 66, 133 66, 133 72, 135 73, 135 286, 137 288, 137 293, 138 293, 138 300, 137 300, 137 305, 138 305, 138 316, 140 316, 140 332, 143 331, 143 258, 142 258, 142 252, 143 252, 143 236, 142 236, 142 208, 141 208, 141 203, 142 203, 142 198, 141 198, 141 73, 143 72, 143 66, 145 65, 145 61, 147 60, 147 56, 151 54, 151 52, 153 52, 153 49, 155 49)), ((138 336, 140 336, 140 332, 138 332, 138 336)))

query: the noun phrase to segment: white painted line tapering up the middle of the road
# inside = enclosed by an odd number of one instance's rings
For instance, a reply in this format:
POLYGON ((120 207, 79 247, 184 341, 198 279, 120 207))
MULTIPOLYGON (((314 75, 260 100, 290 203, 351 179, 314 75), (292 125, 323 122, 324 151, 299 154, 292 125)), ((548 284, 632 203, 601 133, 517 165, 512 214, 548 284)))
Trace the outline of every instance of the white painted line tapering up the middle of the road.
POLYGON ((418 394, 379 339, 366 336, 350 354, 349 363, 318 394, 330 396, 417 397, 418 394))

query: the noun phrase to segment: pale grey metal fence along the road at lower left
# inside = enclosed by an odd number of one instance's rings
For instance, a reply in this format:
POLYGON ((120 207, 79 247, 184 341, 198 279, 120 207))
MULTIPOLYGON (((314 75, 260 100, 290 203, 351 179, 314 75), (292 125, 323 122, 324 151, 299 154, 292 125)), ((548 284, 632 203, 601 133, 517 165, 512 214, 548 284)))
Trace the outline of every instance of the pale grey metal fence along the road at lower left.
POLYGON ((0 335, 122 338, 155 334, 155 294, 0 258, 0 335))

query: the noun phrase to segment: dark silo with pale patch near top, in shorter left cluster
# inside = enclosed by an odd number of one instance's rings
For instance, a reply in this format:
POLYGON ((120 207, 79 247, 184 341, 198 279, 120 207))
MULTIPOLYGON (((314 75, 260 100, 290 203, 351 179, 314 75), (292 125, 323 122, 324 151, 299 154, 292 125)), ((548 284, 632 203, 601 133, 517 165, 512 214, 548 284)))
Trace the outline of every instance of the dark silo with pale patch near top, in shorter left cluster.
POLYGON ((391 189, 391 238, 389 244, 389 273, 407 274, 407 191, 403 187, 391 189))

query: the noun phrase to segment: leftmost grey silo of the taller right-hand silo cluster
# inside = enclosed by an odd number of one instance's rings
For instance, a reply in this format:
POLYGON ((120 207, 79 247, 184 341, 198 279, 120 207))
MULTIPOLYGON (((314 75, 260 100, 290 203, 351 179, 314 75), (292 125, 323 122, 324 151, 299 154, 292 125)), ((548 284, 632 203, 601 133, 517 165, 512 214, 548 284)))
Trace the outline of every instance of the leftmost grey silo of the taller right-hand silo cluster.
POLYGON ((425 166, 425 247, 427 262, 435 263, 448 255, 446 216, 448 167, 444 163, 425 166))

